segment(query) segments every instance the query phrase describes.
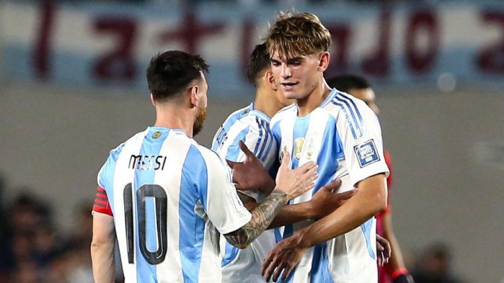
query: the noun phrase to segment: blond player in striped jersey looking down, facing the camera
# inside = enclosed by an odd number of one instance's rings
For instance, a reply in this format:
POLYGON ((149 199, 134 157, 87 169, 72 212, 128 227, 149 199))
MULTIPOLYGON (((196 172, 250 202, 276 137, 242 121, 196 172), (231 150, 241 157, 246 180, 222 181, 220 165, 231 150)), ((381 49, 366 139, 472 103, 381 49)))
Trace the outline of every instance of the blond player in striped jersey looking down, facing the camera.
POLYGON ((288 282, 377 281, 375 219, 387 206, 389 173, 379 121, 364 102, 331 89, 324 80, 331 34, 310 13, 281 13, 266 39, 280 91, 296 103, 271 120, 279 159, 292 168, 319 164, 316 187, 295 198, 309 200, 323 185, 342 180, 340 192, 357 193, 328 216, 288 225, 284 240, 265 259, 269 280, 288 282))

